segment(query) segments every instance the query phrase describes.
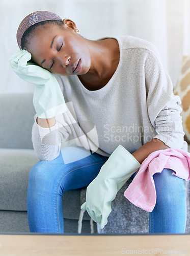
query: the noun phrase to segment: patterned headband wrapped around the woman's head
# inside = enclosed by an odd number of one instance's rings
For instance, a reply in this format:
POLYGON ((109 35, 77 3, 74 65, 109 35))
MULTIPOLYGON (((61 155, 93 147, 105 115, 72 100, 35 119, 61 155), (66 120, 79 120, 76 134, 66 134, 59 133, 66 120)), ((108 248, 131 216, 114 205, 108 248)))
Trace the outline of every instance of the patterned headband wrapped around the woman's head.
POLYGON ((19 48, 21 49, 21 38, 23 33, 26 31, 26 29, 28 29, 29 27, 31 27, 36 23, 43 22, 44 20, 51 20, 51 19, 62 21, 62 19, 57 14, 53 12, 48 12, 48 11, 37 11, 26 16, 20 23, 17 30, 17 34, 16 34, 16 39, 17 39, 19 48))

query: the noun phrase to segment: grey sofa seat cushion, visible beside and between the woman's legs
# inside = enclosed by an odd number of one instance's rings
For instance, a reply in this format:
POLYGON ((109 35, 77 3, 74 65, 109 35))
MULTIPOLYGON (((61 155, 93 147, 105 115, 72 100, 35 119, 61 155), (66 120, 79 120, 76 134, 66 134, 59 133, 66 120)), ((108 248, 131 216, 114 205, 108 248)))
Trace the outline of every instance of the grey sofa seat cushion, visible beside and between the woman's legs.
MULTIPOLYGON (((29 173, 38 161, 34 150, 0 148, 0 210, 27 210, 29 173)), ((78 220, 81 190, 68 190, 63 194, 64 218, 78 220)), ((87 213, 84 220, 90 220, 87 213)))

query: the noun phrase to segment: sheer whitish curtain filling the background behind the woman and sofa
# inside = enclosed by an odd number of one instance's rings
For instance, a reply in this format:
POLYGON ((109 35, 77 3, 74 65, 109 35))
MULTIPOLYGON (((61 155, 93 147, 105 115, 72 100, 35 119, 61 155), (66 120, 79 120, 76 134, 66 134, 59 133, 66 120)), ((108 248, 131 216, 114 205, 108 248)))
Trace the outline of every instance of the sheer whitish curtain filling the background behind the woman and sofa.
POLYGON ((88 39, 132 35, 151 41, 174 87, 182 56, 190 54, 190 0, 1 0, 1 94, 34 90, 13 73, 8 59, 18 51, 19 23, 37 10, 72 19, 88 39))

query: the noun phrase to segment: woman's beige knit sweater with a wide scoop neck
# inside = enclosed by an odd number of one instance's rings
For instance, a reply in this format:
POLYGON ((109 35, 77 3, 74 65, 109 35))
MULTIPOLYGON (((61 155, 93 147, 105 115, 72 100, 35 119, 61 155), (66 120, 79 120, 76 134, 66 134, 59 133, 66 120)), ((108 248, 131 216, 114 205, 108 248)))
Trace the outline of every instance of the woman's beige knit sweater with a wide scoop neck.
POLYGON ((179 96, 162 66, 156 48, 145 40, 114 37, 120 61, 111 80, 100 90, 89 91, 73 76, 56 76, 67 111, 51 128, 33 125, 32 141, 42 161, 58 157, 66 140, 103 156, 121 144, 133 153, 152 138, 171 148, 187 150, 179 96))

